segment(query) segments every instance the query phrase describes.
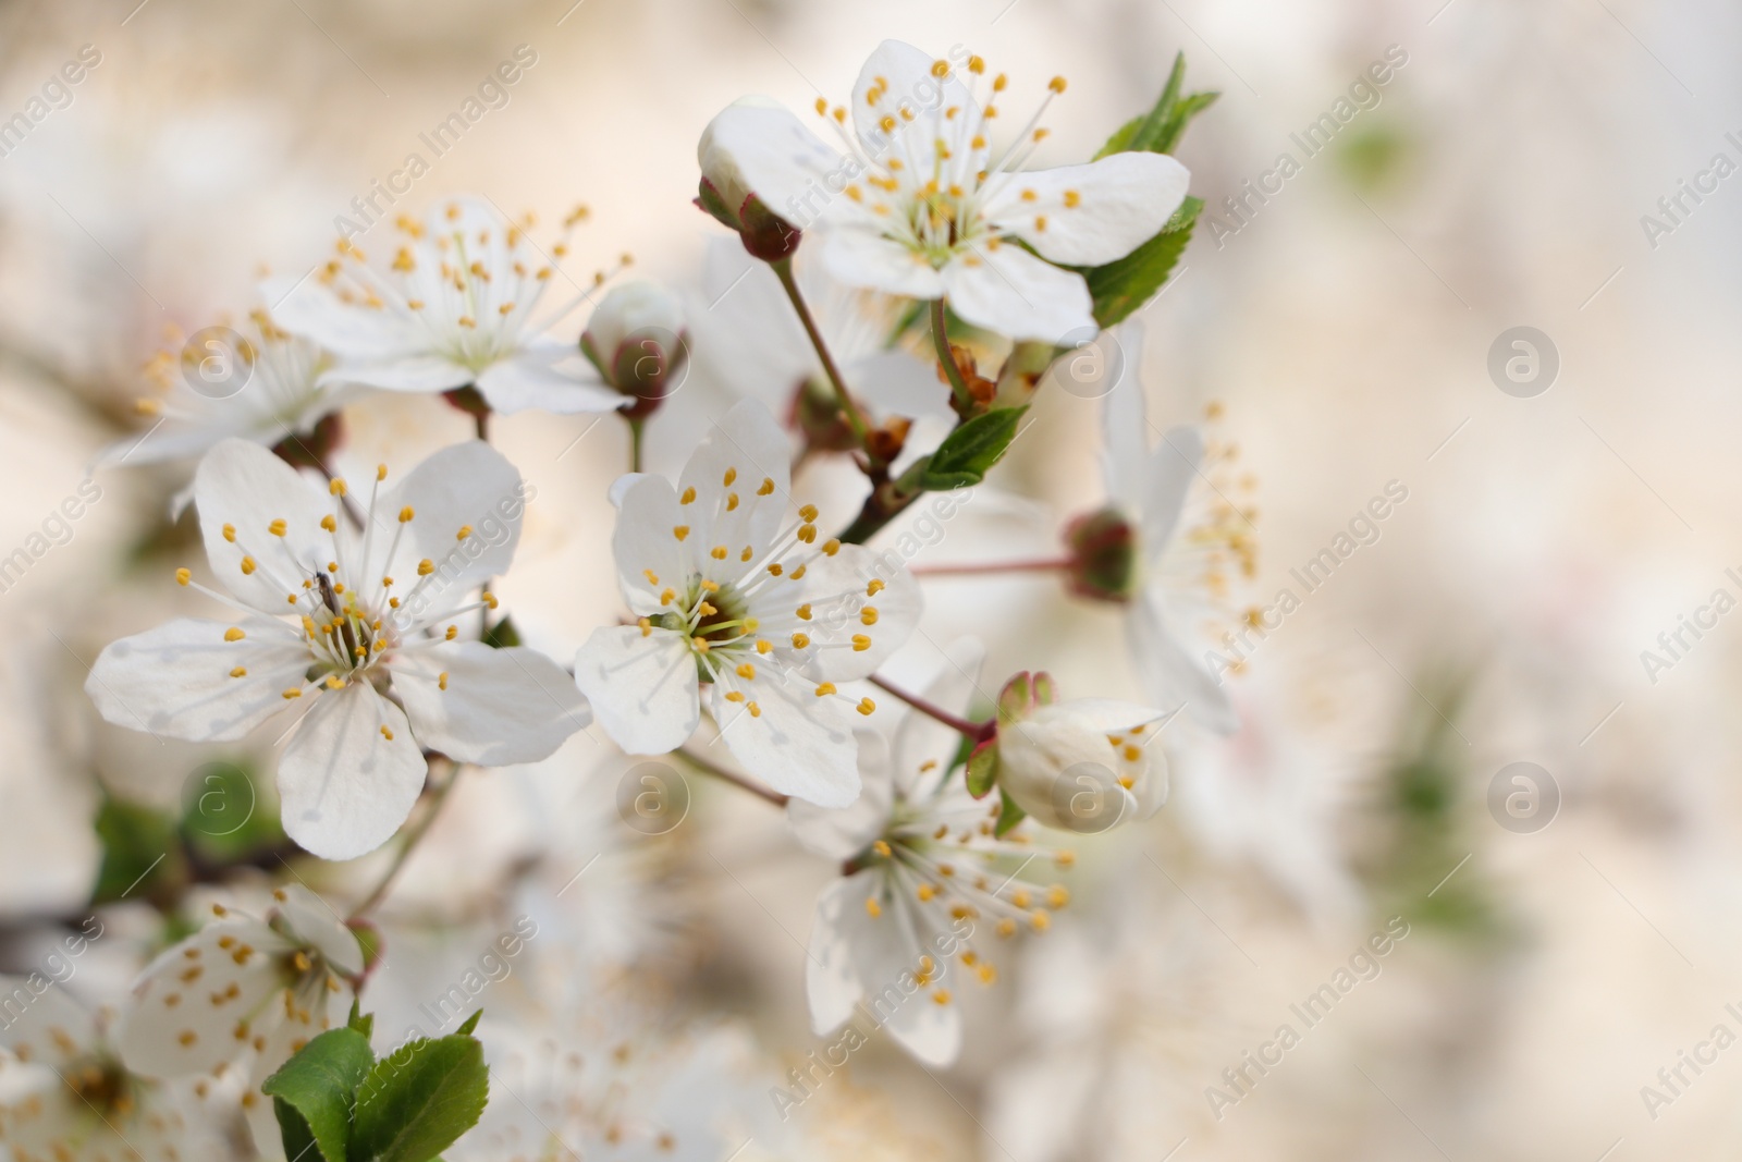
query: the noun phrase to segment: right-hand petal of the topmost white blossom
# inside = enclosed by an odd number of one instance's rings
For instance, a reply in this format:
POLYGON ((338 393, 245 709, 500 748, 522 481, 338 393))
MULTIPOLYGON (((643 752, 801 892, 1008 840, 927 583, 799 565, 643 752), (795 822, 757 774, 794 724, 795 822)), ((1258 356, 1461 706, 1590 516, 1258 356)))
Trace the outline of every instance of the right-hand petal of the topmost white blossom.
POLYGON ((1190 185, 1186 167, 1165 153, 1113 153, 1087 166, 1012 174, 988 200, 986 216, 1042 258, 1099 267, 1155 237, 1190 185))

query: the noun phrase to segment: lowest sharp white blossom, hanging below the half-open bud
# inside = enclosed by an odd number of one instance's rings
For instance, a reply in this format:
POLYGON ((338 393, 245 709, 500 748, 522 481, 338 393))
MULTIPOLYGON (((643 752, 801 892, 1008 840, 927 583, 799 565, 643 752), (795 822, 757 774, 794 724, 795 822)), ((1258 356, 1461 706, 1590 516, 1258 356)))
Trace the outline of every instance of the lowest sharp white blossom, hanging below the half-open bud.
MULTIPOLYGON (((979 669, 977 650, 951 653, 927 690, 944 707, 967 702, 979 669)), ((1068 868, 1071 854, 1036 847, 1026 824, 998 836, 1000 800, 969 794, 960 744, 955 730, 908 713, 892 742, 862 733, 857 803, 787 803, 798 841, 843 864, 817 899, 805 965, 817 1037, 857 1016, 927 1064, 953 1063, 962 1051, 956 963, 991 984, 989 937, 1045 930, 1070 901, 1063 885, 1033 880, 1042 859, 1068 868)))

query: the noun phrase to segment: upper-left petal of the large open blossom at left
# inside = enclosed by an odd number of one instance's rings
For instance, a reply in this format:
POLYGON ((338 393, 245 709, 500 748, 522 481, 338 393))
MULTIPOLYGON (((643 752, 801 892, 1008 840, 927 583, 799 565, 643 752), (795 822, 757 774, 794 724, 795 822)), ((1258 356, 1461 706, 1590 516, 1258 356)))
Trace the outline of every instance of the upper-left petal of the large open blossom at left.
POLYGON ((321 517, 333 516, 338 502, 260 444, 226 439, 206 453, 193 476, 193 503, 213 573, 273 617, 333 552, 321 517), (284 521, 284 537, 270 531, 273 521, 284 521))

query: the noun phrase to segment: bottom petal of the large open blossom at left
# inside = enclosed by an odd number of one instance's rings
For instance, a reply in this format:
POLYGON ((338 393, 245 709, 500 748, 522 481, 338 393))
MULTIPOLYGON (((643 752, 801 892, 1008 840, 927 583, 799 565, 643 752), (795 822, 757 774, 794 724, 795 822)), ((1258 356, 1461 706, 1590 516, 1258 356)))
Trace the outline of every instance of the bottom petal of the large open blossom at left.
POLYGON ((397 706, 361 681, 329 690, 279 760, 284 831, 321 859, 373 852, 411 814, 427 774, 397 706))

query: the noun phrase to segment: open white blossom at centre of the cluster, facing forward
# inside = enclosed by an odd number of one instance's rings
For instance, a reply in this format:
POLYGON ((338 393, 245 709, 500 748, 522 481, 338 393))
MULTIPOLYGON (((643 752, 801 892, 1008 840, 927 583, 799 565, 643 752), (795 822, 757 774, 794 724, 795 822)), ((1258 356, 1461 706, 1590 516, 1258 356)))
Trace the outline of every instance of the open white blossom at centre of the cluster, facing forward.
POLYGON ((681 746, 700 688, 726 746, 777 791, 829 807, 859 794, 852 699, 913 631, 918 584, 861 545, 826 538, 819 512, 787 519, 786 432, 744 401, 690 456, 678 488, 631 474, 611 490, 632 625, 592 632, 575 681, 606 733, 632 754, 681 746), (681 491, 679 491, 681 490, 681 491))

